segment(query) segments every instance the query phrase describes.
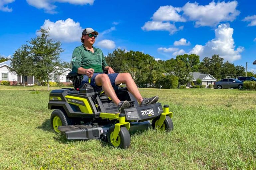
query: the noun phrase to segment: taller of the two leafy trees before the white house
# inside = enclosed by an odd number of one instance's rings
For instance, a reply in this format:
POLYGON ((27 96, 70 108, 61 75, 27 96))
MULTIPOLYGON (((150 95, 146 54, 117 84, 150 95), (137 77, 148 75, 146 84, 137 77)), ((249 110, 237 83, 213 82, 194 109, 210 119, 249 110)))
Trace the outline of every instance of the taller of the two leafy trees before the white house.
POLYGON ((34 62, 33 74, 39 81, 47 81, 49 91, 49 80, 63 71, 60 60, 63 50, 60 41, 49 39, 49 29, 41 28, 38 32, 41 35, 29 41, 34 62))

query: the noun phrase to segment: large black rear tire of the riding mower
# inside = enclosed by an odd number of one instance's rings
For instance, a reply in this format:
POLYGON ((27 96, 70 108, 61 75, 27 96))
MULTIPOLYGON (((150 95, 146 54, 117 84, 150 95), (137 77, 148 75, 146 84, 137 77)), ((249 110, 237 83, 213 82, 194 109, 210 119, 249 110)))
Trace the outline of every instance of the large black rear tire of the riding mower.
POLYGON ((55 132, 60 133, 60 131, 56 130, 58 129, 58 126, 55 125, 54 127, 54 123, 53 120, 55 117, 58 117, 61 120, 61 126, 67 126, 67 125, 71 125, 71 120, 66 116, 66 113, 64 110, 62 109, 55 109, 52 114, 51 114, 51 127, 55 130, 55 132))

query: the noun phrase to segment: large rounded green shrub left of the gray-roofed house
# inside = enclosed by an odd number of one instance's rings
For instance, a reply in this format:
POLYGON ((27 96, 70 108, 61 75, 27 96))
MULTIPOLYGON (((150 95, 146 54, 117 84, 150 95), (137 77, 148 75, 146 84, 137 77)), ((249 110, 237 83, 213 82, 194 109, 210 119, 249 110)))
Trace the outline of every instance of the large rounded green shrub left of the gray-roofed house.
POLYGON ((176 89, 179 84, 178 80, 179 78, 175 75, 166 75, 159 77, 155 84, 157 88, 161 85, 164 89, 176 89))

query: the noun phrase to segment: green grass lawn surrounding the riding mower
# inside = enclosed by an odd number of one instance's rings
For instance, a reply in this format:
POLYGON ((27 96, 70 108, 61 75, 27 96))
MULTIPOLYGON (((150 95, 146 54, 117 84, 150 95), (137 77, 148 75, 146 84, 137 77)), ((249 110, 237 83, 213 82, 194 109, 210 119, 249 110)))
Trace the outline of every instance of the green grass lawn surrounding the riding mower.
POLYGON ((256 169, 256 91, 140 89, 170 106, 174 131, 123 150, 53 132, 46 90, 0 86, 0 169, 256 169))

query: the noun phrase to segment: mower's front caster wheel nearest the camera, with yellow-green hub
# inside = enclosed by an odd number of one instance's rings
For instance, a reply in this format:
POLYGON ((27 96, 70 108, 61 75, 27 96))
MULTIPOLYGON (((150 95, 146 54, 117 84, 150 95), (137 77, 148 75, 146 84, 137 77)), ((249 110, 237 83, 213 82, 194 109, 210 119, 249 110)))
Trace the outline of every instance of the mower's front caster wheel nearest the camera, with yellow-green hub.
POLYGON ((120 132, 116 138, 116 141, 113 141, 113 134, 114 134, 115 126, 111 126, 107 133, 108 142, 113 147, 118 147, 122 149, 127 149, 131 143, 131 136, 126 127, 121 127, 120 132))

